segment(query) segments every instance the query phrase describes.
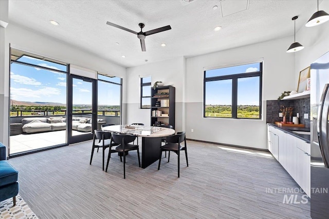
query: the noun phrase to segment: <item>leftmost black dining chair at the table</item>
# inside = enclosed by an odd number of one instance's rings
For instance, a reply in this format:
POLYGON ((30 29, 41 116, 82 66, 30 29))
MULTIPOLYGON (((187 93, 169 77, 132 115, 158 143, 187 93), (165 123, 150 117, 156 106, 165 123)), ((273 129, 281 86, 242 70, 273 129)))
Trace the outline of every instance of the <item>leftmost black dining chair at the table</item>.
MULTIPOLYGON (((111 132, 106 131, 94 131, 94 138, 93 138, 93 148, 92 148, 92 155, 90 156, 90 165, 92 165, 94 151, 97 148, 97 152, 99 148, 103 150, 103 170, 104 170, 104 151, 106 148, 109 148, 111 145, 111 132)), ((112 144, 114 146, 114 144, 112 144)))

